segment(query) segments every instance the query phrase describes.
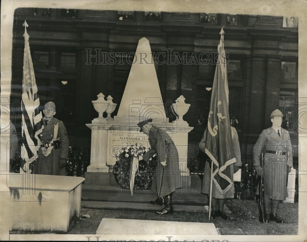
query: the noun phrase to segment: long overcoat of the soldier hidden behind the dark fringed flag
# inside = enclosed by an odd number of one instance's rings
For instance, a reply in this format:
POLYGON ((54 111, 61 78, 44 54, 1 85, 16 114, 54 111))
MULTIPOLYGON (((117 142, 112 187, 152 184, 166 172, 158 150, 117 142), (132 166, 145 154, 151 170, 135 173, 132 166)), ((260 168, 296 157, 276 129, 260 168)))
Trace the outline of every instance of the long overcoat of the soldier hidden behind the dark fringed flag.
MULTIPOLYGON (((205 130, 203 138, 201 139, 199 143, 199 148, 203 152, 205 152, 205 147, 206 147, 206 133, 207 133, 206 131, 207 129, 205 130)), ((236 159, 235 163, 229 165, 232 186, 225 194, 223 194, 216 187, 215 183, 212 182, 212 198, 233 198, 234 196, 235 190, 234 190, 234 183, 233 183, 233 168, 234 166, 241 166, 241 152, 240 152, 239 138, 238 138, 238 133, 234 127, 231 127, 231 136, 232 136, 234 154, 235 154, 235 159, 236 159)), ((205 170, 204 170, 204 179, 203 179, 203 184, 201 187, 201 193, 209 194, 210 179, 211 179, 211 166, 209 162, 206 161, 205 170)))

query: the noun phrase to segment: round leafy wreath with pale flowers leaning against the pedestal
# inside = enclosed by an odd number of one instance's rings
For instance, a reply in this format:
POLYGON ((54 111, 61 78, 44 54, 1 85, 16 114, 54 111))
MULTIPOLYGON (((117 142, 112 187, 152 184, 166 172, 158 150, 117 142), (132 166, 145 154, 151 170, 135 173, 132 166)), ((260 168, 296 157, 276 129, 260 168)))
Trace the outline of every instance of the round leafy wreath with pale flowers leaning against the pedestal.
MULTIPOLYGON (((130 189, 130 171, 134 157, 138 159, 144 156, 153 148, 146 148, 143 145, 127 145, 121 148, 116 156, 116 163, 113 166, 113 175, 121 188, 130 189)), ((157 164, 158 156, 154 154, 148 162, 141 158, 138 171, 135 173, 134 189, 150 189, 153 180, 153 170, 157 164)))

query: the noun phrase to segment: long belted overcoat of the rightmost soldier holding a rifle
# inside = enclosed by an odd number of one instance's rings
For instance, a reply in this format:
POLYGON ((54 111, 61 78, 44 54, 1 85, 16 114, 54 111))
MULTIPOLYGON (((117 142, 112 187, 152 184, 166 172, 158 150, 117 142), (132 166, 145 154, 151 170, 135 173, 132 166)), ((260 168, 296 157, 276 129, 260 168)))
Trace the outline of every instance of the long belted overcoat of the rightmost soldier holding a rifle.
POLYGON ((286 186, 288 167, 293 167, 292 156, 289 156, 289 165, 286 155, 266 154, 266 150, 286 152, 291 151, 289 132, 281 129, 280 136, 270 127, 260 134, 253 149, 253 164, 260 166, 263 152, 263 185, 264 196, 274 200, 285 200, 288 197, 286 186))

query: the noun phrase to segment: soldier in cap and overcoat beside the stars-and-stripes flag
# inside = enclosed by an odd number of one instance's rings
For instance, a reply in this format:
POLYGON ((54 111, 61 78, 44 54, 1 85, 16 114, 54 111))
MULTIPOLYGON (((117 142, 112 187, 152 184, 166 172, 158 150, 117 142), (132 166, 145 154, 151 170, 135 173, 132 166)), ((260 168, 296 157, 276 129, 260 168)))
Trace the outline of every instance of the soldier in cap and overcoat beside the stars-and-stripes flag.
POLYGON ((63 122, 53 117, 56 113, 55 108, 53 102, 47 102, 44 106, 44 126, 38 135, 42 154, 36 160, 36 174, 65 176, 68 136, 63 122))

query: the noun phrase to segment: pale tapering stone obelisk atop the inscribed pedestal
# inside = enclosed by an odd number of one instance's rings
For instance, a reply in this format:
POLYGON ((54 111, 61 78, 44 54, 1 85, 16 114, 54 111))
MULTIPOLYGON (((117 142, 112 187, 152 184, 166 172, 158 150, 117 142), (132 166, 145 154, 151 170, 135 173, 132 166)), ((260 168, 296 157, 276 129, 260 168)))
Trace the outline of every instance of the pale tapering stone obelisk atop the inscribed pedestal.
POLYGON ((154 118, 157 122, 168 123, 150 44, 146 38, 138 42, 122 101, 114 121, 128 121, 128 117, 132 122, 154 118))

